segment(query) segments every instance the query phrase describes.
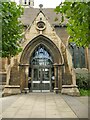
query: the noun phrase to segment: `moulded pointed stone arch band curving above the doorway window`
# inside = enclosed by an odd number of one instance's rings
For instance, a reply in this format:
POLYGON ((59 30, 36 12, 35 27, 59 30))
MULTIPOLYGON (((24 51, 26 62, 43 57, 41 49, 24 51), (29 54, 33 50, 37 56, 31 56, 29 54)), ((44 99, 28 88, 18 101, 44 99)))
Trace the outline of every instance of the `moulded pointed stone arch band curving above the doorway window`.
POLYGON ((54 59, 54 63, 62 64, 63 63, 63 56, 59 48, 55 45, 55 43, 47 38, 44 35, 39 35, 32 39, 24 48, 21 58, 20 64, 29 64, 30 57, 33 51, 38 47, 40 44, 44 45, 52 55, 54 59))

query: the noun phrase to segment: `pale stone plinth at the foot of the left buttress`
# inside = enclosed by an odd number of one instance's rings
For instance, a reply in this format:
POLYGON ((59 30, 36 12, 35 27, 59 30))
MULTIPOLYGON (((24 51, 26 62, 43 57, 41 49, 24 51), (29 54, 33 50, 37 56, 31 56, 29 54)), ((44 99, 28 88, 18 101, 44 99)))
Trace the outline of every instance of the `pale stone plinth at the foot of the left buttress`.
POLYGON ((21 90, 19 85, 5 85, 3 96, 16 95, 20 93, 21 93, 21 90))

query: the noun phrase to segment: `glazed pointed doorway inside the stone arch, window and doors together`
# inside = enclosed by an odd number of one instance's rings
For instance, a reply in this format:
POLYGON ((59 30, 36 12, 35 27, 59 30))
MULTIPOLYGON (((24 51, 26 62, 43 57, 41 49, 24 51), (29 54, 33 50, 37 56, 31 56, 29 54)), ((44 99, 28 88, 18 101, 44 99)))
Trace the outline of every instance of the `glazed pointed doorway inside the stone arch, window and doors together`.
POLYGON ((50 92, 53 90, 53 58, 49 50, 42 44, 32 53, 29 73, 32 92, 50 92))

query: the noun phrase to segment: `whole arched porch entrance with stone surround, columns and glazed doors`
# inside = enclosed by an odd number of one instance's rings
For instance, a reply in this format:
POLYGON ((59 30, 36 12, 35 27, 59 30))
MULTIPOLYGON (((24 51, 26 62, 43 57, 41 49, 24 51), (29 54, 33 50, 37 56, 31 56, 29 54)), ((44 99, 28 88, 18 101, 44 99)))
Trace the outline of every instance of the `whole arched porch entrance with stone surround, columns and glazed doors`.
POLYGON ((30 41, 20 59, 21 90, 28 87, 32 92, 49 92, 62 88, 62 56, 49 38, 39 35, 30 41))

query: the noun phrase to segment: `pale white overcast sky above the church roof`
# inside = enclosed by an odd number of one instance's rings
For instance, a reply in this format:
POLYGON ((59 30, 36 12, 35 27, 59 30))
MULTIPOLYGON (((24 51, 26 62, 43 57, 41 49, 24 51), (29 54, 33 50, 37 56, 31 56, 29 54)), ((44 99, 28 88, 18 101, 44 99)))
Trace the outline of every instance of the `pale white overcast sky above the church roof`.
MULTIPOLYGON (((19 0, 15 0, 17 3, 19 0)), ((39 4, 43 4, 44 8, 55 8, 58 6, 63 0, 34 0, 34 7, 39 7, 39 4)))

